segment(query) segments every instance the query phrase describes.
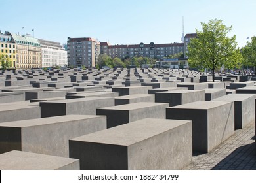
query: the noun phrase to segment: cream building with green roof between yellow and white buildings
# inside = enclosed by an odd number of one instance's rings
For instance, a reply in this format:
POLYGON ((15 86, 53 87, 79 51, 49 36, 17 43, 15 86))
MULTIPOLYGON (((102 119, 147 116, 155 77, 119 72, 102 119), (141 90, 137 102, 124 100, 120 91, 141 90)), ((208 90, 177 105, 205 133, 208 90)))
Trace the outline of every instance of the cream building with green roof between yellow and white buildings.
POLYGON ((30 35, 12 34, 16 45, 16 68, 32 69, 41 68, 41 44, 30 35))

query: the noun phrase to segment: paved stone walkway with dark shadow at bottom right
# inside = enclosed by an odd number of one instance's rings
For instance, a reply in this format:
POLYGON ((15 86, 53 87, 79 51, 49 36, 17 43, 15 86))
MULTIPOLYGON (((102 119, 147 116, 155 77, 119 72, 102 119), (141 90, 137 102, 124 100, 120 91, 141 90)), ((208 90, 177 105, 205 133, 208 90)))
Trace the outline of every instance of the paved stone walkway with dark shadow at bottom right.
POLYGON ((207 154, 193 154, 186 170, 256 170, 255 124, 235 131, 229 139, 207 154))

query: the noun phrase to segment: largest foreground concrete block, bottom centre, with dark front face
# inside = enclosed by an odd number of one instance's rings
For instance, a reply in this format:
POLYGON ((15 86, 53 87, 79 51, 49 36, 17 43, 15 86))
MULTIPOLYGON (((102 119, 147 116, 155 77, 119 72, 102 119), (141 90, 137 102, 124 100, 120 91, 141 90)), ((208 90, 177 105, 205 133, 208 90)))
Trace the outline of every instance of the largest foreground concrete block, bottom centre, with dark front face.
POLYGON ((182 169, 192 159, 191 121, 143 119, 70 139, 80 169, 182 169))

